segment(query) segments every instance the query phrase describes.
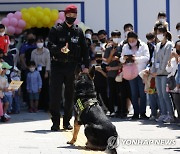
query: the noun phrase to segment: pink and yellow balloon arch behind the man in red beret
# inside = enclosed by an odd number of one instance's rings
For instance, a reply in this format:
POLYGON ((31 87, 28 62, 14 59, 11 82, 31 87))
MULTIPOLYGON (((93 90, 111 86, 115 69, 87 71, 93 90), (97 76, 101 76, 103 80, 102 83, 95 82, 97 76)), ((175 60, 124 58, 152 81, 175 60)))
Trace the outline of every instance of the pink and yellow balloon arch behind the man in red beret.
MULTIPOLYGON (((21 34, 23 30, 30 28, 51 28, 54 24, 62 23, 65 20, 64 12, 57 9, 30 7, 23 8, 21 11, 7 14, 1 23, 7 27, 10 35, 21 34)), ((75 24, 85 31, 88 27, 76 19, 75 24)))

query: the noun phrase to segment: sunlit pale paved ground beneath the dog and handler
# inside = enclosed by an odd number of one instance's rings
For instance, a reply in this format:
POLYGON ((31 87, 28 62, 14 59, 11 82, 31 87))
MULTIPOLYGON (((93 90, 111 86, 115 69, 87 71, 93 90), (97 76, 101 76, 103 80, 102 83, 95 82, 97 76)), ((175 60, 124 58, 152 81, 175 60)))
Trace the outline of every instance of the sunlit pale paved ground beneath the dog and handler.
MULTIPOLYGON (((174 154, 180 152, 180 127, 152 121, 112 118, 119 133, 120 154, 174 154)), ((71 121, 73 124, 73 120, 71 121)), ((93 154, 84 148, 83 127, 75 146, 67 145, 72 131, 51 132, 48 113, 21 112, 0 123, 0 154, 93 154)))

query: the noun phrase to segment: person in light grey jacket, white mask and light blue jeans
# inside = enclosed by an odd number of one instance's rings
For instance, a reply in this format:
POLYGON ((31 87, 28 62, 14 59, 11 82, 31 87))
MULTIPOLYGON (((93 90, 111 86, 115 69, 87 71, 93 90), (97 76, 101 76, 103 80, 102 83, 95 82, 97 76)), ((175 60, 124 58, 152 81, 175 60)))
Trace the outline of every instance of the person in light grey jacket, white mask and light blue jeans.
POLYGON ((166 66, 173 49, 172 42, 167 39, 167 29, 165 26, 159 26, 157 28, 157 38, 160 41, 156 45, 154 51, 154 63, 152 65, 151 73, 155 77, 156 88, 160 103, 160 117, 158 122, 173 122, 174 111, 172 101, 169 93, 166 91, 166 83, 168 72, 166 66))

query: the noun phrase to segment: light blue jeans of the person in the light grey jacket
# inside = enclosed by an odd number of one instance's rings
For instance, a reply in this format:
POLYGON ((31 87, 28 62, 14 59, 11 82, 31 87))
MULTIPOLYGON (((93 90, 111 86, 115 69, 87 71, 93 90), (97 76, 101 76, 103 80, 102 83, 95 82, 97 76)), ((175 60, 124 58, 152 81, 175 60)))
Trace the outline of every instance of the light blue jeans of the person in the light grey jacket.
POLYGON ((169 93, 166 92, 167 76, 156 76, 156 88, 162 115, 173 115, 173 106, 169 93))

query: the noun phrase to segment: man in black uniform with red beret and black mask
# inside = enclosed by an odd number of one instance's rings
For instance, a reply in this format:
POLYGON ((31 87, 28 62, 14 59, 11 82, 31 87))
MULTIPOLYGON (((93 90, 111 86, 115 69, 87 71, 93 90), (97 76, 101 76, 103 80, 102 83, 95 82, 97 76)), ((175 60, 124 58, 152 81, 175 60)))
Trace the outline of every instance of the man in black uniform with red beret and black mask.
POLYGON ((50 77, 50 113, 52 131, 60 128, 60 100, 62 85, 65 85, 65 103, 63 128, 71 130, 70 119, 73 112, 73 95, 75 71, 78 64, 84 64, 84 73, 88 73, 89 54, 83 31, 74 25, 77 18, 77 7, 68 5, 65 8, 65 22, 50 30, 49 49, 52 56, 50 77))

